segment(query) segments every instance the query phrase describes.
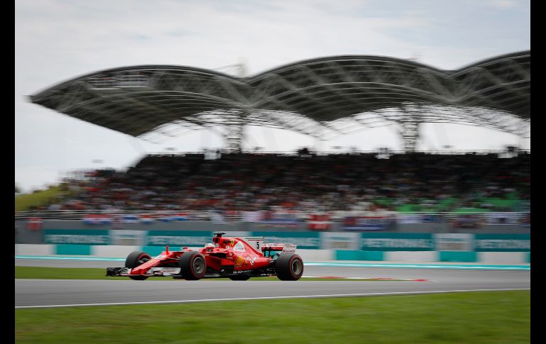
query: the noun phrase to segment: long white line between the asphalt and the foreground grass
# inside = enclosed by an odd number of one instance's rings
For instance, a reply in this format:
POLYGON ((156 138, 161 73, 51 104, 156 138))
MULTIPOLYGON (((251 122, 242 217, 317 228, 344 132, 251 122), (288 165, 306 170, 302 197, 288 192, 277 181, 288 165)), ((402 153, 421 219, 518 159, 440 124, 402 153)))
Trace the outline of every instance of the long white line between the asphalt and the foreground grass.
POLYGON ((271 299, 312 299, 318 297, 348 297, 348 296, 381 296, 381 295, 411 295, 411 294, 439 294, 454 292, 502 292, 509 290, 530 290, 530 288, 512 289, 469 289, 469 290, 434 290, 428 292, 391 292, 391 293, 367 293, 367 294, 330 294, 330 295, 299 295, 299 296, 264 296, 264 297, 238 297, 233 299, 199 299, 199 300, 176 300, 176 301, 140 301, 140 302, 114 302, 111 304, 54 304, 46 306, 15 306, 16 309, 50 308, 50 307, 79 307, 79 306, 123 306, 131 304, 188 304, 192 302, 208 301, 249 301, 249 300, 271 300, 271 299))

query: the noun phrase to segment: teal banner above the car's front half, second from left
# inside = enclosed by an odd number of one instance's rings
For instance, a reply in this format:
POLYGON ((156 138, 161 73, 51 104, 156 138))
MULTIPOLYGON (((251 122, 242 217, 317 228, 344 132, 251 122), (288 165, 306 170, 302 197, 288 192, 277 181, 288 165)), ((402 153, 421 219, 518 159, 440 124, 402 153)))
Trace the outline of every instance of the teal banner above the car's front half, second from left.
POLYGON ((147 231, 145 246, 201 247, 212 243, 209 231, 147 231))

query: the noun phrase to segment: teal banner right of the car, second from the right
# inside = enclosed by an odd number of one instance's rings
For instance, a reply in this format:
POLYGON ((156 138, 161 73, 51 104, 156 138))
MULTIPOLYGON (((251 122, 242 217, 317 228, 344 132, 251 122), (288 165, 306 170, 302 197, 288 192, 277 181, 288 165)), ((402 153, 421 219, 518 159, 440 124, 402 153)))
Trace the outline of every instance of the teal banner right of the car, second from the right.
POLYGON ((360 249, 365 251, 433 251, 431 233, 361 233, 360 249))

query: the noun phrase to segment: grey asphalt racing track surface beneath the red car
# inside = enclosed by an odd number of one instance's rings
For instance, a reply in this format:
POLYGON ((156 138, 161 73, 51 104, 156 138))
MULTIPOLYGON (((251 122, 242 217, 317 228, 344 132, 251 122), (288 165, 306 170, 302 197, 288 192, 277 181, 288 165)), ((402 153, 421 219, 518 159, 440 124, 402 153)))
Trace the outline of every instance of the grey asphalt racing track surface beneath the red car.
MULTIPOLYGON (((101 263, 104 266, 104 262, 101 263)), ((78 265, 80 266, 80 265, 78 265)), ((106 266, 119 266, 108 262, 106 266)), ((72 267, 74 263, 72 262, 72 267)), ((303 276, 425 279, 425 281, 184 281, 16 279, 15 306, 177 303, 225 299, 366 296, 491 289, 530 289, 530 270, 399 269, 307 266, 303 276)))

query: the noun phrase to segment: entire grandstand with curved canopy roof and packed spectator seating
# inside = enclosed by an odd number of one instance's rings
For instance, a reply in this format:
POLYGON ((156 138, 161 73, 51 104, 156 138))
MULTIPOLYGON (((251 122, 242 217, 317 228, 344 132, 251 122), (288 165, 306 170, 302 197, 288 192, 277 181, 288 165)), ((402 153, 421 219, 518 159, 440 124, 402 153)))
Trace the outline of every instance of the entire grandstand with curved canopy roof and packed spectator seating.
POLYGON ((50 205, 50 217, 183 212, 194 219, 210 220, 213 213, 250 221, 291 213, 310 221, 312 214, 327 213, 345 221, 448 213, 464 222, 467 217, 453 214, 512 213, 512 224, 530 221, 530 152, 416 151, 422 123, 528 135, 530 51, 452 71, 356 55, 295 62, 254 77, 182 66, 121 67, 62 82, 30 100, 148 140, 222 126, 226 142, 212 155, 147 155, 126 172, 67 179, 73 196, 50 205), (331 138, 389 125, 400 128, 404 152, 268 154, 244 152, 242 145, 244 126, 331 138))

